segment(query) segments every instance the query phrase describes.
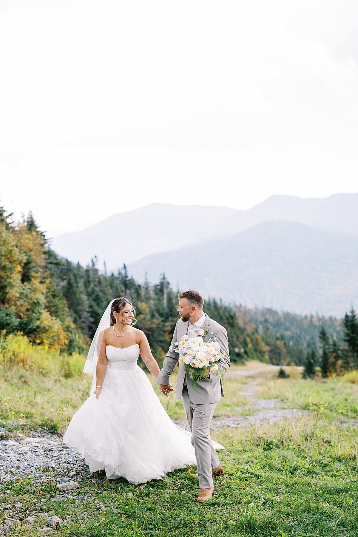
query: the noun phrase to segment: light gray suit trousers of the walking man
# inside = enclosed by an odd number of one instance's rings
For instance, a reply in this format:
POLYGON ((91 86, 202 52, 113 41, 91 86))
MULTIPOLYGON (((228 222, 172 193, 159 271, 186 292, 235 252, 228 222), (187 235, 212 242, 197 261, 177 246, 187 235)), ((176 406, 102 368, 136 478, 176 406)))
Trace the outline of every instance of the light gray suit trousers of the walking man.
POLYGON ((182 401, 189 427, 192 431, 192 445, 195 449, 199 487, 209 489, 213 487, 213 473, 211 470, 217 468, 220 464, 209 430, 217 403, 192 403, 186 386, 182 389, 182 401))

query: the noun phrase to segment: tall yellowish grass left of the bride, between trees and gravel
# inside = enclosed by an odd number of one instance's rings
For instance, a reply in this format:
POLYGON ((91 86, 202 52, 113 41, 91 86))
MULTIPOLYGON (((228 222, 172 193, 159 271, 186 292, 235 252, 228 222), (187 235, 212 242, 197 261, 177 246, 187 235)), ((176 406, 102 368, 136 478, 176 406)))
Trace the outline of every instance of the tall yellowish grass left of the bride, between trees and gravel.
MULTIPOLYGON (((26 336, 0 338, 0 419, 8 430, 64 430, 89 395, 84 357, 33 345, 26 336), (9 423, 10 422, 10 423, 9 423), (12 423, 15 422, 15 423, 12 423)), ((0 423, 1 423, 0 422, 0 423)))

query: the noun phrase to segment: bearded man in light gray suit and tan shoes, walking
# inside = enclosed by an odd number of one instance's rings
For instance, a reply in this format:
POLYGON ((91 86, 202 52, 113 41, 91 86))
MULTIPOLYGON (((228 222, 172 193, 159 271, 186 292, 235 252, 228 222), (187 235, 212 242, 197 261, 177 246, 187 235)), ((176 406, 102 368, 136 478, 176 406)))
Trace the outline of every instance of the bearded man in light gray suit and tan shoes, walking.
MULTIPOLYGON (((196 337, 200 329, 207 330, 207 336, 203 336, 204 340, 207 341, 215 336, 221 350, 225 353, 225 361, 224 363, 217 362, 218 367, 221 369, 230 367, 227 331, 221 324, 203 313, 204 301, 201 294, 198 291, 184 291, 179 293, 178 297, 177 311, 180 319, 176 324, 172 344, 165 356, 162 371, 157 378, 159 389, 164 395, 173 391, 169 377, 178 364, 178 354, 174 352, 174 345, 185 334, 189 337, 196 337)), ((208 372, 207 379, 196 382, 196 388, 193 390, 189 374, 185 372, 184 366, 179 364, 176 396, 178 399, 182 396, 186 417, 192 431, 192 444, 195 449, 200 487, 198 502, 205 502, 213 497, 213 476, 223 474, 209 431, 215 407, 224 396, 221 380, 216 373, 208 372)))

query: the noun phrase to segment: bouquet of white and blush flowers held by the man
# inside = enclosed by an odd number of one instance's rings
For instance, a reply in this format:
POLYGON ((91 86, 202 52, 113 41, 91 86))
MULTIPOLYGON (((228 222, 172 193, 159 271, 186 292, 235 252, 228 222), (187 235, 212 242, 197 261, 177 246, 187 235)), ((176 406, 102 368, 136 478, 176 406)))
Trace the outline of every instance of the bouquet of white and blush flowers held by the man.
POLYGON ((189 338, 183 336, 180 342, 176 342, 174 352, 179 354, 179 362, 185 367, 185 371, 189 372, 192 381, 192 388, 195 390, 198 380, 205 380, 208 370, 221 376, 221 371, 216 362, 224 361, 224 352, 220 349, 216 337, 210 337, 207 342, 203 340, 203 336, 207 335, 206 330, 198 330, 198 336, 189 338))

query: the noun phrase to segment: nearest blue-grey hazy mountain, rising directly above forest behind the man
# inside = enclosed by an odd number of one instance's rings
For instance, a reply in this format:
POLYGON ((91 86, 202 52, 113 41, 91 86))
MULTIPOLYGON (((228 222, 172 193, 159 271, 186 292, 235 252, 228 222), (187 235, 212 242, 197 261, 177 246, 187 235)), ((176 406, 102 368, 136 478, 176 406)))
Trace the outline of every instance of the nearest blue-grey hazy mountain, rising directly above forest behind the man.
POLYGON ((272 221, 149 256, 129 272, 140 281, 165 272, 173 287, 249 307, 342 316, 358 303, 358 238, 272 221))

